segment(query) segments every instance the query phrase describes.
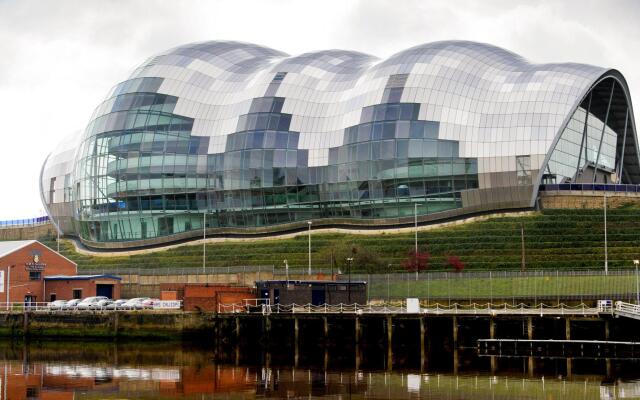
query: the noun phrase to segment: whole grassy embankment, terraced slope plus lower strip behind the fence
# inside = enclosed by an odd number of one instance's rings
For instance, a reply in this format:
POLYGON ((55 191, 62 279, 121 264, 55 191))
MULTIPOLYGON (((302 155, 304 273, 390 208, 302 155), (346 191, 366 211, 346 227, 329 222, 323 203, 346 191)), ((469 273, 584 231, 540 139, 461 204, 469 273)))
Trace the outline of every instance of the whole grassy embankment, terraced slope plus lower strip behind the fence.
MULTIPOLYGON (((604 225, 602 210, 546 210, 528 216, 496 217, 458 226, 421 231, 421 248, 431 254, 428 270, 451 270, 447 258, 455 255, 465 271, 518 270, 521 267, 520 227, 524 226, 527 270, 601 269, 604 264, 604 225)), ((640 258, 640 206, 627 204, 608 212, 609 268, 633 268, 640 258)), ((51 239, 43 239, 49 245, 51 239)), ((354 235, 318 233, 312 235, 312 265, 328 269, 332 253, 336 268, 345 270, 344 258, 357 249, 353 271, 359 273, 402 272, 402 262, 413 249, 413 233, 354 235)), ((117 273, 119 268, 171 270, 202 266, 202 246, 185 245, 150 254, 101 257, 82 255, 69 242, 61 243, 62 253, 78 263, 81 270, 117 273)), ((255 241, 226 241, 207 245, 207 266, 262 265, 283 268, 287 259, 292 268, 307 265, 307 235, 294 238, 255 241)), ((162 273, 162 272, 160 272, 162 273)), ((391 280, 389 290, 384 279, 371 285, 376 297, 405 297, 407 292, 421 297, 510 297, 522 294, 555 296, 558 294, 609 294, 635 290, 632 275, 527 278, 460 279, 415 283, 403 278, 391 280), (408 289, 407 289, 408 288, 408 289)))

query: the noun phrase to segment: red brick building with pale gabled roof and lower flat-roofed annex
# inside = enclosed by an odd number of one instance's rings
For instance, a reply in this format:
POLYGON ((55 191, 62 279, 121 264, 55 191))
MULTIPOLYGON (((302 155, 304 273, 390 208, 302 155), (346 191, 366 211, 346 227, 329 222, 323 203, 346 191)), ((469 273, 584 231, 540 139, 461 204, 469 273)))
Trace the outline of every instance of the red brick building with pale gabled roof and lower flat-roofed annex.
POLYGON ((77 264, 36 240, 0 242, 0 303, 120 296, 120 278, 77 275, 77 264), (101 294, 102 293, 102 294, 101 294))

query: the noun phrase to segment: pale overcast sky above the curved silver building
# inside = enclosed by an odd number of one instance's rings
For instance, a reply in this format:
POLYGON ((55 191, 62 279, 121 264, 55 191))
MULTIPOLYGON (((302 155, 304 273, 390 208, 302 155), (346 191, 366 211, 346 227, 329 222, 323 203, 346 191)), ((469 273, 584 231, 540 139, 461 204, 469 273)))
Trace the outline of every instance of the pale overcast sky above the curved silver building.
POLYGON ((63 137, 147 57, 194 41, 239 40, 289 54, 387 57, 447 39, 533 62, 617 68, 640 101, 640 1, 0 0, 0 220, 43 215, 38 177, 63 137))

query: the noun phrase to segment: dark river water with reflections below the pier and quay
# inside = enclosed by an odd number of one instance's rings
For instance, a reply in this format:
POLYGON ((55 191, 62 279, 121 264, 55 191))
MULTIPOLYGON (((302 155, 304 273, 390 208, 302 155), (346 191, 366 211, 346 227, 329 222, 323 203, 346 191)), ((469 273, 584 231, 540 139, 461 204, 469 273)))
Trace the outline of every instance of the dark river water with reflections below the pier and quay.
POLYGON ((492 361, 468 349, 418 365, 399 355, 389 367, 384 353, 367 350, 356 369, 353 349, 320 349, 294 368, 290 354, 194 343, 0 342, 0 400, 640 398, 633 360, 492 361))

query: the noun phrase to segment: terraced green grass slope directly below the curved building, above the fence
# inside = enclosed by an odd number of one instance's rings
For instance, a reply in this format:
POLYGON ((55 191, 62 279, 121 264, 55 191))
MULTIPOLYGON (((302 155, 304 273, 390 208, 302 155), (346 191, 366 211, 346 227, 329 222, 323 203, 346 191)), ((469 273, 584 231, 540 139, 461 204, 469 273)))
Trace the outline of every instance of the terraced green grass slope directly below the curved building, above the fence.
MULTIPOLYGON (((519 269, 520 227, 524 226, 527 269, 601 268, 604 263, 604 220, 602 210, 545 210, 528 216, 496 217, 484 221, 436 228, 418 234, 421 249, 431 254, 430 270, 450 269, 455 255, 469 269, 519 269)), ((640 258, 640 208, 622 207, 608 212, 609 266, 633 267, 640 258)), ((55 248, 55 238, 40 238, 55 248)), ((253 241, 225 241, 207 245, 207 267, 262 265, 306 267, 307 235, 253 241)), ((414 235, 383 233, 312 234, 312 264, 316 268, 344 268, 344 259, 353 255, 354 271, 387 272, 402 270, 402 262, 413 249, 414 235)), ((130 256, 88 256, 74 251, 68 241, 61 252, 83 269, 116 271, 117 268, 198 268, 202 266, 202 245, 159 249, 130 256)))

